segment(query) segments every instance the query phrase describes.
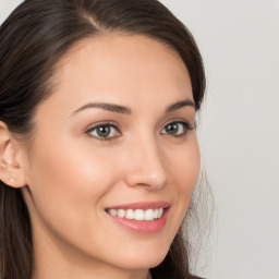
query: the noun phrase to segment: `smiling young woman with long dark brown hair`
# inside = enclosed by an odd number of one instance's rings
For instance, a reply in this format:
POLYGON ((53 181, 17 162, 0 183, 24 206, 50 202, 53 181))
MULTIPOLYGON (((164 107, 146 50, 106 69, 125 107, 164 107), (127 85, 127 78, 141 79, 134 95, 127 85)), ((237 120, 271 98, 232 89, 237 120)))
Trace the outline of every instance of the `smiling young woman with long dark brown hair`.
POLYGON ((26 0, 0 29, 1 278, 195 278, 193 37, 156 0, 26 0))

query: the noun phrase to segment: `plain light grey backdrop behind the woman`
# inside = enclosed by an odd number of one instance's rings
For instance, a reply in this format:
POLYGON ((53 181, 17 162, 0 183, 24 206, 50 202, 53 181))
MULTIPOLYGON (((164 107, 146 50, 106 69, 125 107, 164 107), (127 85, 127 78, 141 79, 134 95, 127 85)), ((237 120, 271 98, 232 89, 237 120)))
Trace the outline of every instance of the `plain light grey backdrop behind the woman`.
MULTIPOLYGON (((0 22, 21 1, 0 0, 0 22)), ((198 129, 215 196, 211 279, 279 279, 279 1, 161 0, 194 34, 207 97, 198 129)))

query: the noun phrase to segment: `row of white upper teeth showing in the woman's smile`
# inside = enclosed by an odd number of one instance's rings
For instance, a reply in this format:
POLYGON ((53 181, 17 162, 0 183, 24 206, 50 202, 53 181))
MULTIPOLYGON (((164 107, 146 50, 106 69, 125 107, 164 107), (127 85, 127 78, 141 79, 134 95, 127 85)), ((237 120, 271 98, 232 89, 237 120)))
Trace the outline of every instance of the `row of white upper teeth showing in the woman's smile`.
POLYGON ((154 219, 161 218, 163 213, 163 208, 156 208, 156 209, 109 209, 108 214, 112 216, 118 216, 119 218, 125 218, 130 220, 136 221, 151 221, 154 219))

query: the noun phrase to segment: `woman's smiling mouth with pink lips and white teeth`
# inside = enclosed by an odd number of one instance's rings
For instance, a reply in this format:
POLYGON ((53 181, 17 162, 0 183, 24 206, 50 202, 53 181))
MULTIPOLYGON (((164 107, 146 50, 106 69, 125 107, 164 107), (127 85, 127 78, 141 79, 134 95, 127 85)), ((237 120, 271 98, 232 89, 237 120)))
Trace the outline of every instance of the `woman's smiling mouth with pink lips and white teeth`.
POLYGON ((167 222, 170 204, 167 202, 133 203, 106 208, 108 216, 119 223, 136 232, 157 232, 167 222))

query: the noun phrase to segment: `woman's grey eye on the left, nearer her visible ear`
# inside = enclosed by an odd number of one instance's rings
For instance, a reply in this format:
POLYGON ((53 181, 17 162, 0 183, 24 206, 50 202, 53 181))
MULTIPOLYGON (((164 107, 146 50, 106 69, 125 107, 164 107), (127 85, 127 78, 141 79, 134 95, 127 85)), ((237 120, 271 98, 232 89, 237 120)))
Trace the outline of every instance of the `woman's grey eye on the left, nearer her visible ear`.
POLYGON ((113 124, 105 123, 90 128, 86 131, 86 134, 92 137, 96 137, 100 141, 109 141, 120 136, 118 128, 113 124))

